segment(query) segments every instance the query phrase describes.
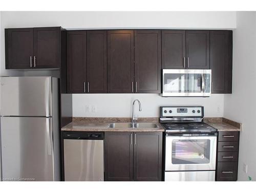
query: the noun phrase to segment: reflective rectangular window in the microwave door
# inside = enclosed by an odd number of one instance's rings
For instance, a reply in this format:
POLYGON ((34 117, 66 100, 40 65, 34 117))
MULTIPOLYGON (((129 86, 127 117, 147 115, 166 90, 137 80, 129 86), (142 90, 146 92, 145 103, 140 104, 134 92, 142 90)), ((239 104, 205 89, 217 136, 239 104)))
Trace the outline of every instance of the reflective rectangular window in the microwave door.
POLYGON ((201 74, 164 74, 163 91, 166 93, 201 93, 201 74))

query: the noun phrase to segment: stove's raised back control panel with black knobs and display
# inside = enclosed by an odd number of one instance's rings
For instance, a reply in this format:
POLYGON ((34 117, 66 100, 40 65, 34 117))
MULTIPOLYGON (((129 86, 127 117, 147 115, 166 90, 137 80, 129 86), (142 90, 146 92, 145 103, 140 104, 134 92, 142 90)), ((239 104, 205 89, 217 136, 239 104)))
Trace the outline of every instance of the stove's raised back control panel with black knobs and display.
POLYGON ((162 117, 203 117, 203 106, 161 106, 162 117))

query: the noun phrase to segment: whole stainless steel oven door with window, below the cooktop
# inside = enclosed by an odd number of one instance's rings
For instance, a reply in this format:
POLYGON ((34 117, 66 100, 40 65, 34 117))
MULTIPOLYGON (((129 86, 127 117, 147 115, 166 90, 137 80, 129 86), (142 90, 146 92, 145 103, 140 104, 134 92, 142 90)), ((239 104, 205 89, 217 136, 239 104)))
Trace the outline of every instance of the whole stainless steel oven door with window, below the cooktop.
POLYGON ((166 135, 165 171, 215 170, 217 136, 184 135, 166 135))

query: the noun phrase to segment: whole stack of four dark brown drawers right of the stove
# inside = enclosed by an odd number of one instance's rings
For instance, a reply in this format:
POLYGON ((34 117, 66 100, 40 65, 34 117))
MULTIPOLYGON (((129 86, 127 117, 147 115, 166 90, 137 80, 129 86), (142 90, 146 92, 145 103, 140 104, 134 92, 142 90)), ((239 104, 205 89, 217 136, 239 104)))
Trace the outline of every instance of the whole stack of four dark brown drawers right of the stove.
POLYGON ((239 132, 219 132, 216 181, 237 181, 239 132))

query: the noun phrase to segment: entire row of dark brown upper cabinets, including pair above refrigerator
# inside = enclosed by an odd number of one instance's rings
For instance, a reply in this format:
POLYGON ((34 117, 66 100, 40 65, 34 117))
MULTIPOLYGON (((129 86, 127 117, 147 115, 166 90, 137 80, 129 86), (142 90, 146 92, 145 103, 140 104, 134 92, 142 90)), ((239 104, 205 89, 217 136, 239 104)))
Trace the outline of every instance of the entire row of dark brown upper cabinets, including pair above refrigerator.
MULTIPOLYGON (((5 29, 6 69, 60 68, 61 31, 5 29)), ((161 69, 211 69, 211 92, 231 93, 232 31, 67 32, 69 93, 161 93, 161 69)))

